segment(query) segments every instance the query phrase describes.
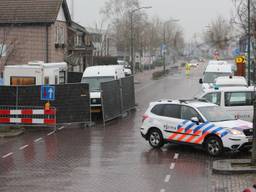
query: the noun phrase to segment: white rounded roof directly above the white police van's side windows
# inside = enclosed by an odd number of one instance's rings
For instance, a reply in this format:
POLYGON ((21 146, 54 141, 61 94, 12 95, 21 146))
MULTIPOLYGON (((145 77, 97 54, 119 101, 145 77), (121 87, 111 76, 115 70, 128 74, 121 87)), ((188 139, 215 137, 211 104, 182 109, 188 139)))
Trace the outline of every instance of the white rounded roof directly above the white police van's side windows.
POLYGON ((218 77, 215 79, 214 84, 218 87, 248 86, 244 77, 232 75, 226 77, 218 77))

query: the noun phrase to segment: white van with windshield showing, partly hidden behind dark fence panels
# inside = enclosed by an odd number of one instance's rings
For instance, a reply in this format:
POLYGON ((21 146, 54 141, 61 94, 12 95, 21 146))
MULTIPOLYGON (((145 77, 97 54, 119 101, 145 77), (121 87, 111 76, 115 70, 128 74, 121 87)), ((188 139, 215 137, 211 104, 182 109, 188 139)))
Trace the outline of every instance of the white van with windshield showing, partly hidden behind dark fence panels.
POLYGON ((123 65, 101 65, 87 67, 82 77, 82 83, 90 87, 91 112, 101 112, 101 87, 102 82, 113 81, 125 77, 123 65))

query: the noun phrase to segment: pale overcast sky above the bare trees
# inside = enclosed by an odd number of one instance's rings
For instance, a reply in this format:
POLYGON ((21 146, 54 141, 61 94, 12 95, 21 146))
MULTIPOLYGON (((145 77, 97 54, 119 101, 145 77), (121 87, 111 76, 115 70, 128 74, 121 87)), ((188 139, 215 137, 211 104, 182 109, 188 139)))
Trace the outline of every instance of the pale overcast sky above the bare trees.
MULTIPOLYGON (((69 2, 71 0, 68 0, 69 2)), ((94 27, 100 21, 100 9, 107 0, 73 0, 74 20, 83 26, 94 27)), ((141 0, 142 6, 152 6, 146 10, 150 16, 159 16, 163 20, 170 17, 179 20, 187 40, 206 30, 206 27, 218 15, 229 18, 234 6, 232 0, 141 0)))

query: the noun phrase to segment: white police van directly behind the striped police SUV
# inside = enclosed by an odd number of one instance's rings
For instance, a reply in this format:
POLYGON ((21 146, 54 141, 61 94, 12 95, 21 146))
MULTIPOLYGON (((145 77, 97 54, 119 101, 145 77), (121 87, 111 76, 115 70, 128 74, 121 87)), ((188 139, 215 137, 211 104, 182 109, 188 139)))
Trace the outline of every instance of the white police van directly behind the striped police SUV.
POLYGON ((237 119, 253 120, 254 87, 220 87, 208 89, 199 98, 221 106, 237 119))

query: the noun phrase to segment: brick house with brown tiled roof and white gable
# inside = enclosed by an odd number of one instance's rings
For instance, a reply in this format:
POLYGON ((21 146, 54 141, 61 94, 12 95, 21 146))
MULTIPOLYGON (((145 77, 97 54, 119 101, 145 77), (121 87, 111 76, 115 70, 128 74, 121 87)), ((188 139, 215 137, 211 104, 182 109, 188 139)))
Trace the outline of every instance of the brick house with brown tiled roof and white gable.
POLYGON ((0 13, 0 72, 4 65, 66 60, 74 23, 66 0, 1 0, 0 13))

